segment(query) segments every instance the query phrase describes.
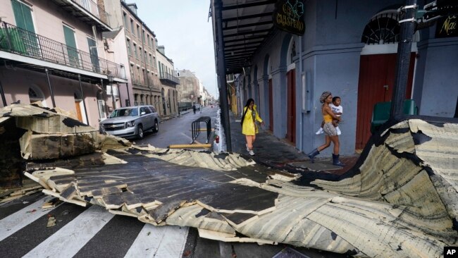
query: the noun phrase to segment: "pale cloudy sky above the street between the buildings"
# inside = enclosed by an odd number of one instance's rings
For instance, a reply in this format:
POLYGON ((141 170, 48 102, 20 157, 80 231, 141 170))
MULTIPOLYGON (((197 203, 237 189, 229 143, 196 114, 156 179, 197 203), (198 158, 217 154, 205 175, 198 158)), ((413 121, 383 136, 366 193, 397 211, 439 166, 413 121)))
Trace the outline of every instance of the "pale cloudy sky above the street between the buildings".
POLYGON ((218 97, 210 0, 126 0, 156 35, 175 69, 195 73, 206 90, 218 97))

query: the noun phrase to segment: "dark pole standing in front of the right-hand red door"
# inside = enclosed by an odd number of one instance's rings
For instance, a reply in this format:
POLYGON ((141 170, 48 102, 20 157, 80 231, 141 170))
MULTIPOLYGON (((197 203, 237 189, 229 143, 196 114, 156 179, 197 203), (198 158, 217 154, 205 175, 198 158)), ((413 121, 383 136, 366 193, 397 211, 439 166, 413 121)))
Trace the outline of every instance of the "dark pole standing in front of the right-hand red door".
POLYGON ((406 14, 402 20, 400 40, 397 44, 397 60, 395 70, 395 87, 392 91, 390 119, 403 113, 406 98, 407 80, 409 78, 410 52, 415 32, 415 13, 418 6, 416 0, 406 0, 406 5, 400 10, 406 14))

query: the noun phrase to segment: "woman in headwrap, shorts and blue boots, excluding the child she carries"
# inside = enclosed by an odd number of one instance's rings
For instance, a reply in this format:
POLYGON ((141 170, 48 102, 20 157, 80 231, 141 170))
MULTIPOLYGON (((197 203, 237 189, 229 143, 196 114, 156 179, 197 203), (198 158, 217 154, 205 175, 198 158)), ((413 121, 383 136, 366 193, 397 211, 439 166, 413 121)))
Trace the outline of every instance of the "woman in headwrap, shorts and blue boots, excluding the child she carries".
POLYGON ((333 102, 333 94, 330 92, 323 92, 320 97, 320 102, 323 104, 321 106, 321 113, 323 114, 323 130, 326 135, 324 145, 314 149, 312 152, 308 154, 311 162, 314 162, 314 158, 316 155, 320 154, 323 149, 326 149, 330 146, 330 143, 333 142, 334 149, 333 149, 333 165, 335 166, 345 166, 342 162, 339 161, 339 149, 340 149, 340 142, 339 142, 339 135, 337 135, 337 130, 333 125, 333 119, 340 121, 340 116, 335 115, 333 111, 330 109, 329 104, 333 102))

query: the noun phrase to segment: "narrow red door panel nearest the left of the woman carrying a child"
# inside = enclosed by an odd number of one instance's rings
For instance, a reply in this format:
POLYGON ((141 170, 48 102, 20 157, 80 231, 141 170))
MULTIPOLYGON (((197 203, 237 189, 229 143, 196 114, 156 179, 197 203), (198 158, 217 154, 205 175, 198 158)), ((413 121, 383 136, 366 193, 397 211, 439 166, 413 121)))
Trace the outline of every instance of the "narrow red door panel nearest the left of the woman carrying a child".
POLYGON ((286 73, 287 78, 287 119, 286 139, 295 144, 296 142, 296 70, 286 73))

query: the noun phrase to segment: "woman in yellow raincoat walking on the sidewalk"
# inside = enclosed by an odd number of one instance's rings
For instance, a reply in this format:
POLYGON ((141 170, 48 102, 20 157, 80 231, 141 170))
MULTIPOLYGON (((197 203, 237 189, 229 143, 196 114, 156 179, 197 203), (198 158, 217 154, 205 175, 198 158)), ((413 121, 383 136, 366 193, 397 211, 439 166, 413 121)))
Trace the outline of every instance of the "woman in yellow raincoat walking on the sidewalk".
POLYGON ((245 108, 243 108, 243 115, 242 115, 242 134, 245 135, 247 139, 247 152, 250 155, 254 155, 253 152, 253 143, 256 140, 256 133, 258 133, 258 127, 256 125, 256 121, 259 121, 261 125, 264 126, 264 121, 259 117, 258 111, 256 111, 256 105, 254 104, 253 99, 248 99, 245 108))

